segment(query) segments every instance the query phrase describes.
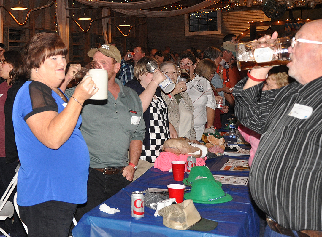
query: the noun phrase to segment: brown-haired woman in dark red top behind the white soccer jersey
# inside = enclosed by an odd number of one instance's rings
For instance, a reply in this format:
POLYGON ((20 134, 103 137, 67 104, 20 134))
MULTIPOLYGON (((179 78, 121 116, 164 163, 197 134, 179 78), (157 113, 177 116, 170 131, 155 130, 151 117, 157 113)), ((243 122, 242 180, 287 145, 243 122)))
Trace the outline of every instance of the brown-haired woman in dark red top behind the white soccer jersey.
MULTIPOLYGON (((203 77, 206 77, 208 81, 212 81, 212 79, 215 77, 214 75, 218 76, 217 72, 217 65, 216 63, 211 59, 202 59, 198 65, 196 66, 195 72, 203 77)), ((218 76, 219 77, 219 76, 218 76)), ((210 83, 211 84, 211 83, 210 83)), ((219 96, 216 88, 211 84, 213 89, 213 94, 215 95, 216 103, 224 103, 224 99, 222 96, 219 96)), ((222 124, 220 122, 220 114, 225 114, 228 112, 228 106, 223 105, 223 108, 217 109, 215 111, 215 120, 213 123, 213 126, 217 129, 220 129, 222 127, 222 124)), ((208 127, 211 126, 211 124, 207 124, 208 127)))

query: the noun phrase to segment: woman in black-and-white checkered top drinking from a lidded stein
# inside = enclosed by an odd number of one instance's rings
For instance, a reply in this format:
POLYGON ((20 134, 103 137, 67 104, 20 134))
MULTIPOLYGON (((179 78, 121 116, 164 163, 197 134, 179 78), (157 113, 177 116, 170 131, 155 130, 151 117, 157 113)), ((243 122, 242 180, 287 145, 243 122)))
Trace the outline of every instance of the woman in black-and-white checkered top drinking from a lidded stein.
MULTIPOLYGON (((152 57, 140 59, 134 67, 135 80, 126 84, 139 95, 143 106, 143 119, 146 124, 142 153, 135 178, 153 167, 153 162, 159 156, 163 142, 170 138, 168 106, 161 96, 161 90, 158 88, 158 85, 166 79, 166 76, 158 69, 154 73, 149 73, 146 68, 149 61, 157 63, 156 59, 152 57)), ((171 127, 172 137, 176 138, 177 133, 174 127, 171 127)))

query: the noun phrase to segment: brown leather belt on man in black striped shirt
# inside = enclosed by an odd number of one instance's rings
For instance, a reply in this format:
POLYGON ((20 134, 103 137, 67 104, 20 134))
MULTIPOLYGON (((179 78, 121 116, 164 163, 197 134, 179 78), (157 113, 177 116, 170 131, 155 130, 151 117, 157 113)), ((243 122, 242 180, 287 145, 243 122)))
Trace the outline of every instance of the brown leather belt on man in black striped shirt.
MULTIPOLYGON (((285 234, 288 236, 295 237, 292 230, 284 228, 283 226, 279 225, 272 218, 269 216, 266 217, 266 222, 272 231, 278 232, 279 234, 285 234)), ((298 231, 299 237, 322 237, 322 231, 314 231, 314 230, 301 230, 298 231)))

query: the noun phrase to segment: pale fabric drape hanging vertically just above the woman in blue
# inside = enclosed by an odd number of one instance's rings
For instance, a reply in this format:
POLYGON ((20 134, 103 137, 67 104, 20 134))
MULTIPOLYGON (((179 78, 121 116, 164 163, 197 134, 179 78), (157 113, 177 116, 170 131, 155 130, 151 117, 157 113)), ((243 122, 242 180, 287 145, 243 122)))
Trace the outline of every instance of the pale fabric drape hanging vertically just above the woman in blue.
MULTIPOLYGON (((1 0, 0 0, 1 1, 1 0)), ((56 0, 56 17, 59 36, 62 38, 62 41, 65 43, 67 48, 69 48, 69 24, 66 18, 66 7, 68 7, 68 1, 65 0, 56 0)), ((66 61, 68 62, 68 55, 66 56, 66 61)))

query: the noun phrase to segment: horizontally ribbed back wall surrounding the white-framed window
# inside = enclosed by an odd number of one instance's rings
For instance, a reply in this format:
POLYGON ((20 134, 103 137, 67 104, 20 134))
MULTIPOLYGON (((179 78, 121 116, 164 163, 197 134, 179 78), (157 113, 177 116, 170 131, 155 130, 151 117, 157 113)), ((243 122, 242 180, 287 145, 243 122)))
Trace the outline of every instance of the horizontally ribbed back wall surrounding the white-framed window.
MULTIPOLYGON (((148 20, 148 42, 149 48, 164 50, 170 46, 172 51, 181 52, 188 46, 204 50, 209 46, 220 47, 226 34, 240 34, 249 27, 248 21, 263 21, 264 13, 261 8, 247 10, 240 8, 229 12, 221 12, 221 34, 185 36, 184 15, 149 19, 148 20), (151 47, 152 46, 152 47, 151 47)), ((264 29, 264 28, 263 28, 264 29)), ((259 30, 263 30, 260 29, 259 30)), ((249 35, 244 38, 249 40, 249 35)))

